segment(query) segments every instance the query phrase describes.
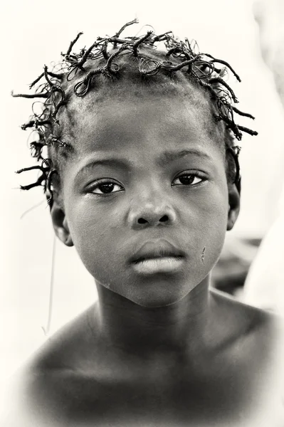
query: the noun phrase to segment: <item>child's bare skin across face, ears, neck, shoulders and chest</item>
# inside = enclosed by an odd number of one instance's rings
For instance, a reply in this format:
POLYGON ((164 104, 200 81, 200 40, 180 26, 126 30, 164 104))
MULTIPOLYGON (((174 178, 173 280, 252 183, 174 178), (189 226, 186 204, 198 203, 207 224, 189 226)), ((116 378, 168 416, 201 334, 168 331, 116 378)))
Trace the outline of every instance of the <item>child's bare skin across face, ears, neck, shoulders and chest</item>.
POLYGON ((114 96, 88 114, 74 109, 75 153, 51 216, 99 300, 33 360, 33 406, 51 425, 246 426, 268 384, 273 322, 209 290, 239 195, 219 130, 206 130, 206 102, 145 91, 139 102, 114 96), (86 167, 110 156, 124 164, 86 167), (182 251, 180 267, 137 272, 133 253, 160 239, 182 251))

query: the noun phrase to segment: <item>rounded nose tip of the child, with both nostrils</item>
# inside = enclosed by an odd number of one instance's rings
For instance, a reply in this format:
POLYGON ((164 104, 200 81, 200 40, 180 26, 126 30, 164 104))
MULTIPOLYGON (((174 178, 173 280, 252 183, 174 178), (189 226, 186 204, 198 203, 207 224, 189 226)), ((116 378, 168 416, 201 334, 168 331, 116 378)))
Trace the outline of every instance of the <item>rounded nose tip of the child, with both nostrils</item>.
POLYGON ((177 218, 174 208, 166 201, 140 201, 132 206, 129 214, 132 228, 146 228, 149 226, 169 226, 177 218))

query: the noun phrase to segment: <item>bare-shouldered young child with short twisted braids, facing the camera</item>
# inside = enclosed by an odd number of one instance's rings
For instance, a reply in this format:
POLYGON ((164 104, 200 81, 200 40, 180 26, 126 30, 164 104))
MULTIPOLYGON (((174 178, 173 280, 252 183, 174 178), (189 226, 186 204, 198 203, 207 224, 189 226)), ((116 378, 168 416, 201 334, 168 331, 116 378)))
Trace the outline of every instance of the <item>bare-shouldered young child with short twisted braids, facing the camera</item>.
POLYGON ((74 53, 79 33, 14 95, 43 99, 21 188, 43 186, 99 296, 23 371, 14 424, 276 425, 275 321, 209 290, 238 217, 235 142, 256 135, 223 77, 240 79, 171 32, 123 38, 132 23, 74 53))

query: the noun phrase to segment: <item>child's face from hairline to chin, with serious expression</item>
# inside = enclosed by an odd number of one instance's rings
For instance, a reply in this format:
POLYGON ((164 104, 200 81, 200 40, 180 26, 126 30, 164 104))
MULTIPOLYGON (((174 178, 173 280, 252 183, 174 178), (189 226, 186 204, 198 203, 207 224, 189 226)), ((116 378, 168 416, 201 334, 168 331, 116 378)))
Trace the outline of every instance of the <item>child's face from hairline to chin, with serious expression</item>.
POLYGON ((206 131, 209 112, 205 120, 190 100, 145 94, 76 116, 62 179, 80 258, 96 283, 132 302, 177 302, 209 275, 227 228, 224 149, 206 131), (142 246, 144 258, 161 246, 180 256, 135 263, 142 246))

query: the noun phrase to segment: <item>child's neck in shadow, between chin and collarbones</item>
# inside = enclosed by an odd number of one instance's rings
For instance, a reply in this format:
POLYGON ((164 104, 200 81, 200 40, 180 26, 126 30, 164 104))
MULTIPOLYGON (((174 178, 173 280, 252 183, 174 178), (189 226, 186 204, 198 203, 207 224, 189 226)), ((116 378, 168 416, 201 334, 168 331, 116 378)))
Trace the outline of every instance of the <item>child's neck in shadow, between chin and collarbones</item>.
POLYGON ((127 352, 196 349, 210 321, 209 278, 179 302, 142 307, 97 283, 100 334, 127 352))

